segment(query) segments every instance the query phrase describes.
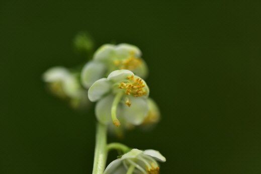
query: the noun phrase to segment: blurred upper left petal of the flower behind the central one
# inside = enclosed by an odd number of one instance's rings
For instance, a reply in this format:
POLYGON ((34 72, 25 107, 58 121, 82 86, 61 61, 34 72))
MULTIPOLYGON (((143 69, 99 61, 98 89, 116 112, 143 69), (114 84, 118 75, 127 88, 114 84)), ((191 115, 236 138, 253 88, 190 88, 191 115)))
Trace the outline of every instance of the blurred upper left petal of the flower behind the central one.
POLYGON ((112 44, 104 44, 94 53, 94 60, 99 62, 107 62, 115 53, 115 46, 112 44))

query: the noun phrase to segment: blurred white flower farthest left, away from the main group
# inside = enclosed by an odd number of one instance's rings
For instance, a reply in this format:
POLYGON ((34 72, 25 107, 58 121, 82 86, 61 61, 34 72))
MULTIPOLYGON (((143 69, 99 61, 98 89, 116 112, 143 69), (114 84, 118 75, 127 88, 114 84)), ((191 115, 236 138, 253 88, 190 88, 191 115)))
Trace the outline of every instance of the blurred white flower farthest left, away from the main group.
POLYGON ((67 68, 56 66, 46 70, 43 80, 54 96, 67 101, 73 109, 84 109, 90 105, 88 92, 81 87, 77 74, 67 68))

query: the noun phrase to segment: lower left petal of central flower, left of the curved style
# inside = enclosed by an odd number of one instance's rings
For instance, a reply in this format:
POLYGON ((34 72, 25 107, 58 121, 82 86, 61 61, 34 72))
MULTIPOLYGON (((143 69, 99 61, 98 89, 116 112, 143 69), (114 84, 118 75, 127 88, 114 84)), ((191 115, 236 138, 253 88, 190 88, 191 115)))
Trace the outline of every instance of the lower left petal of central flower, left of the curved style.
POLYGON ((108 124, 112 122, 111 120, 111 109, 114 96, 108 95, 105 98, 97 102, 95 106, 95 115, 99 122, 103 124, 108 124))

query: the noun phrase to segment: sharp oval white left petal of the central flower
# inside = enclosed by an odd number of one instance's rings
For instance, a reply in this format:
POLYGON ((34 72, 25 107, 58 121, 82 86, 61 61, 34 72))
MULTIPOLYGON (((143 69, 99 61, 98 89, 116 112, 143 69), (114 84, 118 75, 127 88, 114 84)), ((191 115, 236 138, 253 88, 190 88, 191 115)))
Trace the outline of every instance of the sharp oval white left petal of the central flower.
POLYGON ((91 102, 100 100, 106 93, 111 90, 111 83, 107 78, 101 78, 94 82, 88 91, 88 97, 91 102))

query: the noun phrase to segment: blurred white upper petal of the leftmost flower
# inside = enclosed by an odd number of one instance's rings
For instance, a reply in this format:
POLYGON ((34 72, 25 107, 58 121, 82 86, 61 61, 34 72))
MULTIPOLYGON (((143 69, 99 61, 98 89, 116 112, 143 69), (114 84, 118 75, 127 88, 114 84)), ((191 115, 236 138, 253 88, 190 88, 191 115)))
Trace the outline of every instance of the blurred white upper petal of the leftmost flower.
POLYGON ((43 80, 45 82, 58 81, 66 78, 69 74, 69 71, 65 67, 55 66, 44 72, 43 80))

